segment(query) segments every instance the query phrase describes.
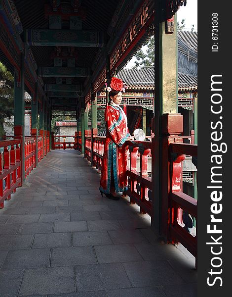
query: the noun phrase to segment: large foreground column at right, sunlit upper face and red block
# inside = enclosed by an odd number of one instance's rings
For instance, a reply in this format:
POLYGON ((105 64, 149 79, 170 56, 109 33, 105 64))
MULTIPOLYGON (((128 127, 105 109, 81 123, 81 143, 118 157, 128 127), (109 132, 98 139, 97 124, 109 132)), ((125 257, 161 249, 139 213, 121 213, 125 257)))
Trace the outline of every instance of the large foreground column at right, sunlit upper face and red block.
POLYGON ((152 227, 164 238, 168 231, 168 145, 181 133, 177 86, 177 15, 174 32, 165 32, 163 1, 155 1, 155 117, 152 154, 152 227), (170 135, 173 135, 171 138, 170 135))

